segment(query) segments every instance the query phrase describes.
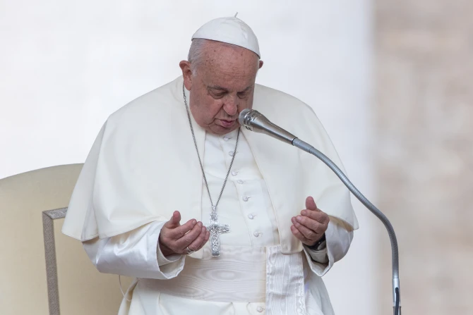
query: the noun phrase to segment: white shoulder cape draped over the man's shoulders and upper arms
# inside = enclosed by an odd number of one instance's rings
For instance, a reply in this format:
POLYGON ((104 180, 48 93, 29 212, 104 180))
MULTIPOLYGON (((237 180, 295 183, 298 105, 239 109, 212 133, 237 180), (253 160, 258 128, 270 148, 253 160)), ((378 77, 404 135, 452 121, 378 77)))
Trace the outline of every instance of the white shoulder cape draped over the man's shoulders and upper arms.
MULTIPOLYGON (((73 191, 64 234, 81 241, 112 237, 152 221, 168 221, 175 210, 181 212, 181 222, 202 221, 203 179, 182 82, 177 78, 138 97, 104 123, 73 191)), ((253 109, 312 144, 343 170, 315 113, 299 99, 256 85, 253 109)), ((205 132, 194 129, 203 150, 205 132)), ((323 162, 267 135, 241 131, 268 186, 283 253, 302 250, 291 233, 291 217, 305 208, 309 195, 347 228, 358 228, 349 191, 323 162)), ((202 251, 192 256, 201 258, 202 251)))

